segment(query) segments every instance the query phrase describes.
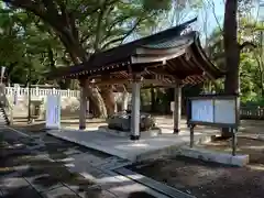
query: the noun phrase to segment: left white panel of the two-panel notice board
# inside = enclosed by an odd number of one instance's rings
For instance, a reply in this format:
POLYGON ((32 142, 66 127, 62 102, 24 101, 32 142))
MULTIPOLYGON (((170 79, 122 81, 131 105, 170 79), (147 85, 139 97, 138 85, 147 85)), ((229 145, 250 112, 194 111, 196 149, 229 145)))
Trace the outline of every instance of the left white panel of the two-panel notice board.
POLYGON ((193 100, 191 121, 213 122, 213 100, 193 100))

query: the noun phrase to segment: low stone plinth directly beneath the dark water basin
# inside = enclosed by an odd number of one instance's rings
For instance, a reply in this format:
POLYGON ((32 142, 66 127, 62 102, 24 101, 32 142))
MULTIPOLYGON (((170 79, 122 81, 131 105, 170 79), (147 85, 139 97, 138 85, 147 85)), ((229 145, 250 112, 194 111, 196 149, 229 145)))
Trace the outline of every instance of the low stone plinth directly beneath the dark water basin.
MULTIPOLYGON (((98 130, 101 132, 111 133, 119 136, 129 138, 131 135, 131 132, 112 130, 112 129, 109 129, 107 125, 100 125, 98 130)), ((150 131, 141 131, 141 138, 157 136, 158 134, 162 134, 162 130, 158 128, 150 131)))

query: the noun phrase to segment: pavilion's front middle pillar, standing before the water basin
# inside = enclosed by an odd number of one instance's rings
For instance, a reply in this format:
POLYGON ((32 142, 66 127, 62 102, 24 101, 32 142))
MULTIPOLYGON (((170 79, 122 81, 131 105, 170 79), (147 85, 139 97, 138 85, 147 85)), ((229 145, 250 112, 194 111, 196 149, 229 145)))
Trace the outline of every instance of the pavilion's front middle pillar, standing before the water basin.
POLYGON ((131 140, 140 140, 140 89, 141 76, 133 76, 132 80, 132 112, 131 112, 131 140))

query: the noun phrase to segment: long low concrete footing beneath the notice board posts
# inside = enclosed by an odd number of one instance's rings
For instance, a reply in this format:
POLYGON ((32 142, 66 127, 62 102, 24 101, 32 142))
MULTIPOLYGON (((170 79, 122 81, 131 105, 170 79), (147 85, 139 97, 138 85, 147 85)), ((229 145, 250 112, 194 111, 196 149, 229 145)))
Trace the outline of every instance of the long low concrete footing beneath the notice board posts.
POLYGON ((202 161, 216 162, 220 164, 233 165, 233 166, 245 166, 250 162, 249 155, 231 155, 228 153, 219 153, 209 150, 201 148, 190 148, 190 147, 182 147, 178 150, 178 155, 200 158, 202 161))

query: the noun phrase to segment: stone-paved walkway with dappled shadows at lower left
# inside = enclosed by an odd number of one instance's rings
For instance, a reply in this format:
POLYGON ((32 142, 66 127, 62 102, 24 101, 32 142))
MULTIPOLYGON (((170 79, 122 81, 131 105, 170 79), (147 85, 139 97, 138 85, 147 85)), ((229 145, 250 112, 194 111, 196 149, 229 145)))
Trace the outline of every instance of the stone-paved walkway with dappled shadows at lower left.
POLYGON ((111 170, 128 161, 59 141, 44 132, 28 136, 1 129, 0 134, 4 140, 0 197, 167 198, 111 170))

